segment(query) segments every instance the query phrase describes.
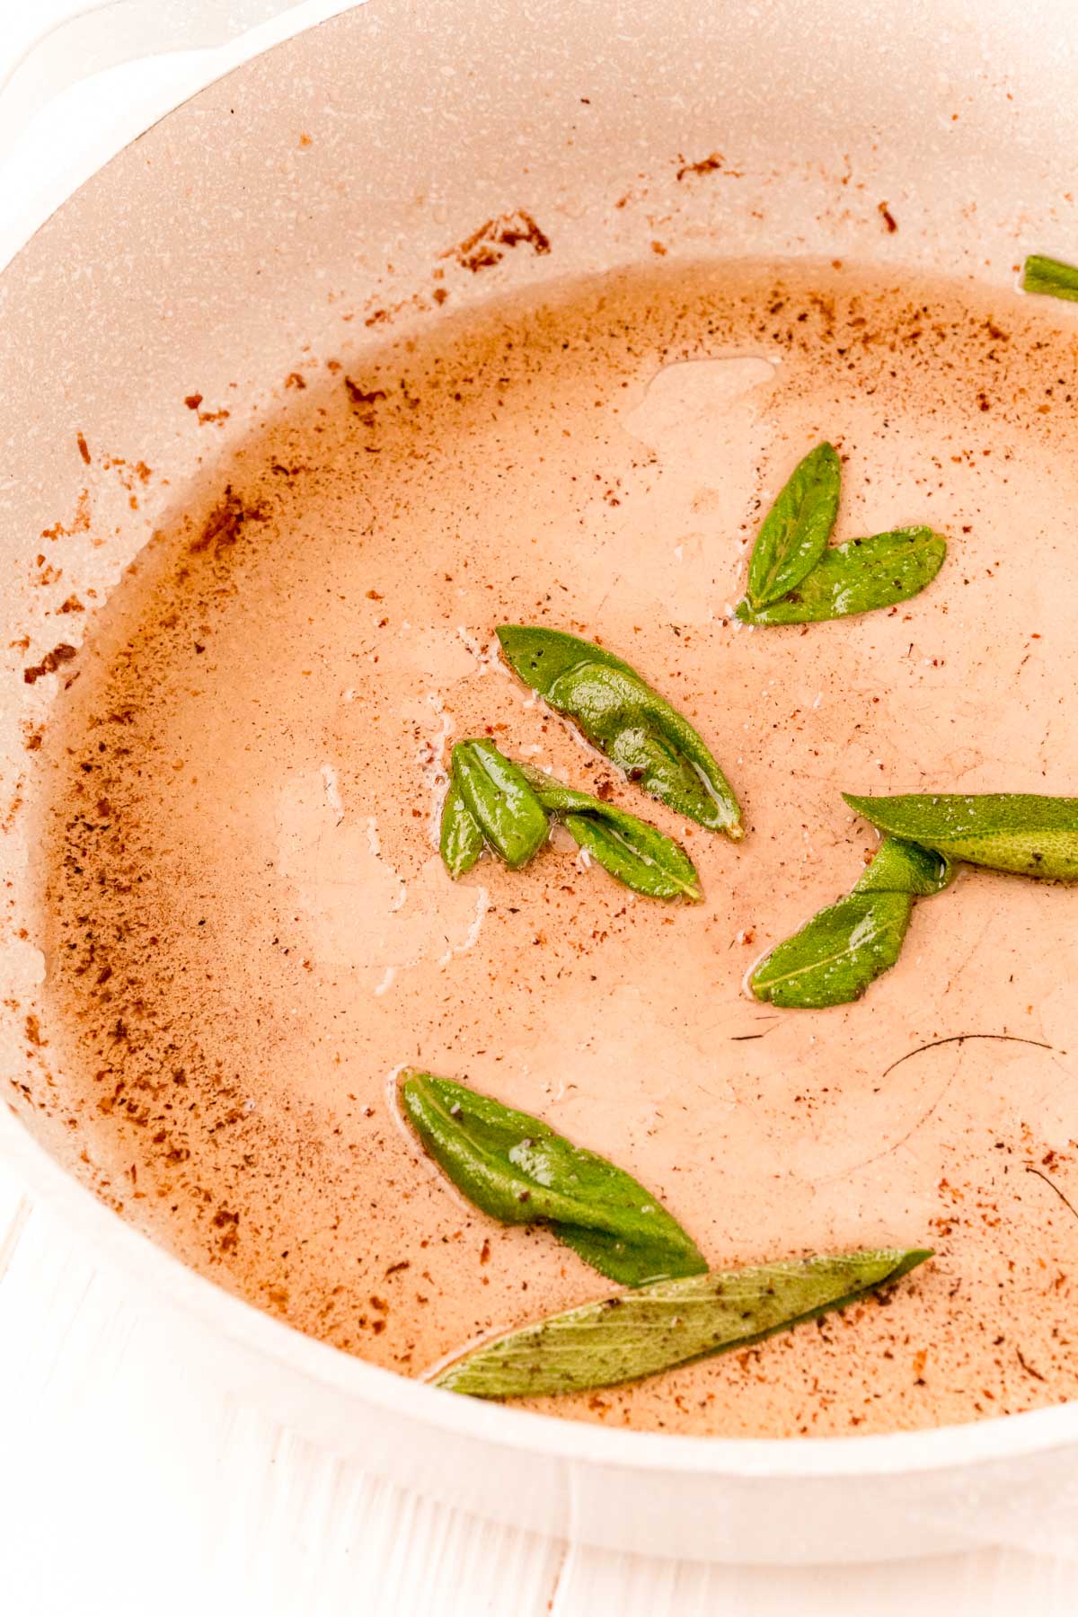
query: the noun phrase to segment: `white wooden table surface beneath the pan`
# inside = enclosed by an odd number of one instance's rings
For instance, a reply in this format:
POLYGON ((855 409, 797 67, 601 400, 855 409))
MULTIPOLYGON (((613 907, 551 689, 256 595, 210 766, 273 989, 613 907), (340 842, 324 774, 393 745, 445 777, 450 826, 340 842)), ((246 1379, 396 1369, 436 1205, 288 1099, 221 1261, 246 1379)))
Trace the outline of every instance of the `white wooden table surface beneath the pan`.
MULTIPOLYGON (((0 0, 0 70, 74 6, 0 0)), ((262 34, 268 42, 275 29, 262 34)), ((234 52, 215 55, 223 68, 234 52)), ((76 178, 89 175, 204 73, 204 58, 170 57, 112 70, 53 103, 0 170, 0 252, 60 201, 73 162, 76 178)), ((154 1307, 95 1273, 3 1163, 0 1444, 5 1617, 1078 1611, 1078 1562, 1021 1549, 873 1568, 677 1565, 551 1543, 402 1494, 178 1362, 154 1307)))

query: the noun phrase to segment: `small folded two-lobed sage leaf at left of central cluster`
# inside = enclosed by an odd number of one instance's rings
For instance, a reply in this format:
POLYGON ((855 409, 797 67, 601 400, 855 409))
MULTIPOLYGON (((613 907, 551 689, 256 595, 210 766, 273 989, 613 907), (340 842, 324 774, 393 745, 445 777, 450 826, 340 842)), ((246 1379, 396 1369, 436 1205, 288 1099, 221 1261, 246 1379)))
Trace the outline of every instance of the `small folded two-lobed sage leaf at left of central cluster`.
POLYGON ((493 741, 459 741, 441 810, 441 857, 449 875, 470 870, 483 844, 519 870, 548 836, 546 812, 516 763, 493 741))

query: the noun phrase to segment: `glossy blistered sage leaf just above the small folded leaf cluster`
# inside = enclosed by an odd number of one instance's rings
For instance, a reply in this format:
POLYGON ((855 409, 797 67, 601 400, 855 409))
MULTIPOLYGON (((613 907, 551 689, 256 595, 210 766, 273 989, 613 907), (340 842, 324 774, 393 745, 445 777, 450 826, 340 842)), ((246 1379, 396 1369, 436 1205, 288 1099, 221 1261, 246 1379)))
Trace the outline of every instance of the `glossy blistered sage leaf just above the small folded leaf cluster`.
POLYGON ((503 624, 509 666, 645 792, 737 841, 740 808, 692 724, 640 674, 590 640, 559 629, 503 624))

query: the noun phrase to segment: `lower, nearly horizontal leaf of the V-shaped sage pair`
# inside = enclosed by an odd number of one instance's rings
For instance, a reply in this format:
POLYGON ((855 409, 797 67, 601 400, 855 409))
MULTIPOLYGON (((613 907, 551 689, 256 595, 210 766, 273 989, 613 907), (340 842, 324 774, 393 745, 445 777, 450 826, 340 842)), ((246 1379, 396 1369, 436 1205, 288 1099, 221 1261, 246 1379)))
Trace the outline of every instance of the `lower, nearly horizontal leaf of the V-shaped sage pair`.
POLYGON ((752 624, 826 623, 918 595, 944 564, 947 540, 931 527, 897 527, 871 538, 850 538, 824 550, 795 590, 760 611, 739 602, 737 616, 752 624))

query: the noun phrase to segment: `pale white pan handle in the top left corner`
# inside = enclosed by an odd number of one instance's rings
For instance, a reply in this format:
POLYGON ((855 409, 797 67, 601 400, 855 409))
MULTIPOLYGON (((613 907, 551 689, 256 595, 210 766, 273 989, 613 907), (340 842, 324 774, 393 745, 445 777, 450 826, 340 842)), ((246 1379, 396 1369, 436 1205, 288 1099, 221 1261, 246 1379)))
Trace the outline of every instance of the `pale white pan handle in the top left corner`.
MULTIPOLYGON (((79 79, 173 50, 210 50, 286 11, 296 26, 346 11, 354 0, 97 0, 31 40, 0 79, 0 162, 34 113, 79 79)), ((229 63, 231 65, 231 63, 229 63)))

